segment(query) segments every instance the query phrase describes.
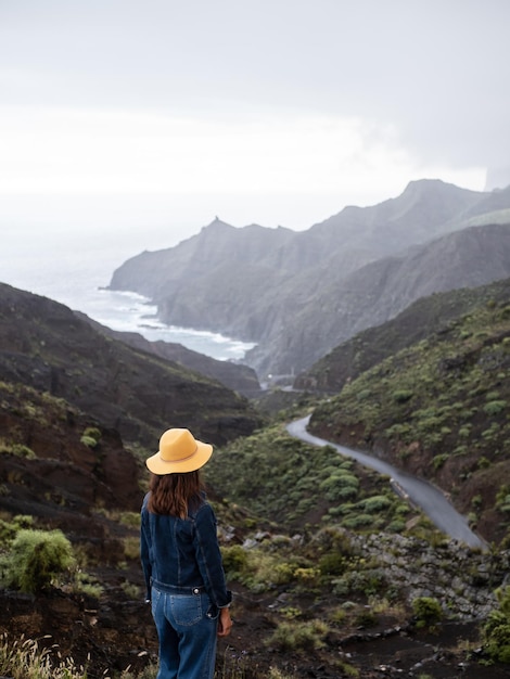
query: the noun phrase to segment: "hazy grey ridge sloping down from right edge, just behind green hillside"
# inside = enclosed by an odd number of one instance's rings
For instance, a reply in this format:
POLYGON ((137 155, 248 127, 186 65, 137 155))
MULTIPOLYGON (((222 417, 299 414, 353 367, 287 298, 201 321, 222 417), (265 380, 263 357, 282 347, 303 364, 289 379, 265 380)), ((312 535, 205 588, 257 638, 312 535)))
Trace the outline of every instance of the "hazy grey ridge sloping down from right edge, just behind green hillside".
POLYGON ((510 225, 472 227, 378 259, 318 293, 247 353, 259 371, 294 374, 356 333, 434 292, 510 276, 510 225))

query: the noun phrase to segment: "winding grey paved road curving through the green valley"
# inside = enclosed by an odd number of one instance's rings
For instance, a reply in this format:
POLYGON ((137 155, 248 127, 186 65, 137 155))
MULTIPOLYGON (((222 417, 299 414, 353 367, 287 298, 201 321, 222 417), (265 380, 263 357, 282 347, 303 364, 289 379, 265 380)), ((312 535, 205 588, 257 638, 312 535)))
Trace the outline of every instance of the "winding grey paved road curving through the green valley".
POLYGON ((470 547, 486 547, 485 542, 470 529, 466 517, 459 514, 459 512, 448 502, 444 494, 435 486, 432 486, 421 478, 411 476, 392 464, 388 464, 383 460, 379 460, 378 458, 373 458, 365 452, 350 450, 344 446, 339 446, 337 444, 332 444, 308 434, 306 427, 309 419, 310 417, 308 415, 302 420, 291 422, 291 424, 286 427, 289 434, 316 446, 332 446, 341 454, 357 460, 364 466, 375 470, 381 474, 386 474, 393 479, 394 487, 398 490, 403 490, 413 504, 423 510, 423 512, 430 517, 435 526, 439 528, 439 530, 443 530, 443 533, 450 536, 455 540, 466 542, 470 547))

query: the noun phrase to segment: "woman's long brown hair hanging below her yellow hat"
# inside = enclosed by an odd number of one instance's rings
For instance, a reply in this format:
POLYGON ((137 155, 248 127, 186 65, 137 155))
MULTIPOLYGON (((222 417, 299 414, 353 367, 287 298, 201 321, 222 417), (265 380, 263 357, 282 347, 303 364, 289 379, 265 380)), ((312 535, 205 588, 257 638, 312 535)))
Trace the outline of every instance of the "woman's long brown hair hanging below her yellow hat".
POLYGON ((186 474, 151 474, 149 489, 150 512, 186 518, 189 510, 202 503, 204 485, 196 470, 186 474))

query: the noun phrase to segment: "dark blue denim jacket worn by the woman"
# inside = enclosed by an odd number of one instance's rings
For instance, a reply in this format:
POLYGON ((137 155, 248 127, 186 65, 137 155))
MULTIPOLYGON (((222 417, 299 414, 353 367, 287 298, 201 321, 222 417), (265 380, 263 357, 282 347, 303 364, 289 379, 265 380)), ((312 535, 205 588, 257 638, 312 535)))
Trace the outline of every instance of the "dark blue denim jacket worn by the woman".
POLYGON ((153 514, 148 510, 149 494, 141 510, 140 556, 146 598, 154 585, 171 588, 204 588, 214 605, 228 606, 221 553, 216 534, 216 516, 208 502, 201 503, 187 518, 153 514))

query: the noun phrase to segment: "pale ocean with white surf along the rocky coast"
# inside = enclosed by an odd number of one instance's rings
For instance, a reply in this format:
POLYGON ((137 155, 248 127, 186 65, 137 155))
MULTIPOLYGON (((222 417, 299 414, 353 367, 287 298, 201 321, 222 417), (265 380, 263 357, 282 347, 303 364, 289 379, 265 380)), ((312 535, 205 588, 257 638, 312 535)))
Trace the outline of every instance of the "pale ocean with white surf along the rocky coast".
MULTIPOLYGON (((148 239, 149 241, 149 239, 148 239)), ((109 291, 112 274, 126 259, 163 245, 164 234, 144 245, 143 232, 98 232, 80 229, 35 230, 2 228, 0 281, 43 295, 124 332, 138 332, 150 341, 182 344, 217 360, 242 360, 253 344, 217 333, 166 325, 150 300, 130 292, 109 291), (148 243, 149 245, 149 243, 148 243)))

